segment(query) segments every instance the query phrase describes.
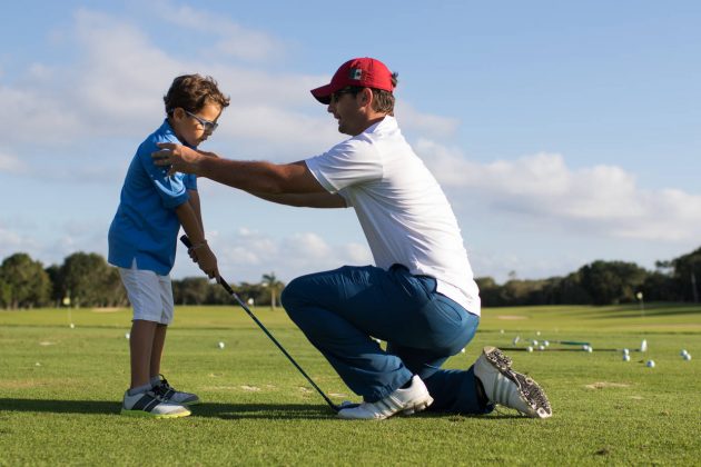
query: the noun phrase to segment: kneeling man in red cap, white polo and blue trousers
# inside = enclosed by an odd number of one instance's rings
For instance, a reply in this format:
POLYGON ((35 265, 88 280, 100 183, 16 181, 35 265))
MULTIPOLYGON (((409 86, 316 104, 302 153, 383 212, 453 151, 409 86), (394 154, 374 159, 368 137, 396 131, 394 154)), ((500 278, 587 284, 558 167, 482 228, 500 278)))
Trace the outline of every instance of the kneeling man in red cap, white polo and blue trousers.
POLYGON ((487 414, 495 404, 550 417, 541 387, 496 348, 485 347, 467 370, 441 369, 474 337, 480 297, 452 208, 394 118, 396 78, 381 61, 357 58, 312 90, 352 138, 304 161, 226 160, 170 143, 154 158, 269 201, 355 209, 376 266, 303 276, 282 297, 292 320, 363 396, 340 418, 428 407, 487 414))

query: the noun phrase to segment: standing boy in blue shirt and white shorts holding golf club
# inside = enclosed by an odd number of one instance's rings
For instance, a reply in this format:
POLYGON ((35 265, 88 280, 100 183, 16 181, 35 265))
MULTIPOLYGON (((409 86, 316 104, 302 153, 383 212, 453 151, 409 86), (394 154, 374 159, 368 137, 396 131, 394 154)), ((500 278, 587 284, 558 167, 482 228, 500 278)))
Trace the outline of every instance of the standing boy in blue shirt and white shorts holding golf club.
POLYGON ((166 330, 172 321, 170 269, 175 262, 180 226, 190 238, 190 257, 209 278, 218 277, 217 259, 205 239, 197 178, 154 165, 157 142, 179 142, 196 148, 217 128, 229 105, 210 77, 176 78, 164 97, 167 118, 137 149, 131 160, 115 219, 109 228, 109 262, 119 268, 134 307, 129 340, 131 385, 121 414, 175 418, 190 415, 199 403, 160 375, 166 330))

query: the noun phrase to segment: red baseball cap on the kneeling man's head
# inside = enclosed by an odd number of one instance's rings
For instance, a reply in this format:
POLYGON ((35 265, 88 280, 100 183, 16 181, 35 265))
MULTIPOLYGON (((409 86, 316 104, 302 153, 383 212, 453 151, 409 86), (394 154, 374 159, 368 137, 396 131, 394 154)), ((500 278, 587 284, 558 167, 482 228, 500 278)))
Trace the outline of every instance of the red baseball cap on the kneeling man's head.
POLYGON ((332 82, 312 89, 312 96, 322 103, 330 103, 330 96, 346 86, 361 86, 392 92, 392 72, 379 60, 369 57, 348 60, 338 68, 332 82))

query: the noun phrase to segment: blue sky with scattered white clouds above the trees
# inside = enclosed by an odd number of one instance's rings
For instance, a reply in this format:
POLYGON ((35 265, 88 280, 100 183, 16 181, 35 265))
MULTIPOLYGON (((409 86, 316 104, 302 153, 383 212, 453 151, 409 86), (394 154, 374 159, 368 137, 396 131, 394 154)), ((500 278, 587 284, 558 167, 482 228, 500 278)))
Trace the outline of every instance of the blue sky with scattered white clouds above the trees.
MULTIPOLYGON (((231 98, 200 149, 284 163, 346 138, 309 90, 354 57, 399 73, 397 120, 475 276, 652 270, 701 246, 701 2, 2 3, 0 259, 107 256, 176 76, 213 76, 231 98)), ((199 191, 229 281, 373 262, 353 209, 199 191)), ((172 277, 199 274, 179 247, 172 277)))

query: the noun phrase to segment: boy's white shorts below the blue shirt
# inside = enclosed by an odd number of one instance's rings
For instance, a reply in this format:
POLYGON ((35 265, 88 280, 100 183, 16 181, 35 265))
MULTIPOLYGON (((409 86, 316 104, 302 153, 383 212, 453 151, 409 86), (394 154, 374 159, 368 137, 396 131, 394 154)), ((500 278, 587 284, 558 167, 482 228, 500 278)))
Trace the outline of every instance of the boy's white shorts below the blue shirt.
POLYGON ((127 289, 127 297, 134 308, 134 319, 172 322, 172 286, 169 276, 159 276, 154 271, 119 268, 119 276, 127 289))

